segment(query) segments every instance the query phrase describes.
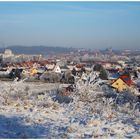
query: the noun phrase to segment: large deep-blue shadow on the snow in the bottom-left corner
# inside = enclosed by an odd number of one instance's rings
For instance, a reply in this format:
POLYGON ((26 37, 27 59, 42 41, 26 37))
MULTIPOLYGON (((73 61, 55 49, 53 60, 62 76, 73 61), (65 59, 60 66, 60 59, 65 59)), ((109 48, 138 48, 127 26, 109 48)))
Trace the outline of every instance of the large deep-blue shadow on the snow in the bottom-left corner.
POLYGON ((0 115, 0 138, 42 138, 48 131, 39 124, 24 125, 22 117, 0 115))

